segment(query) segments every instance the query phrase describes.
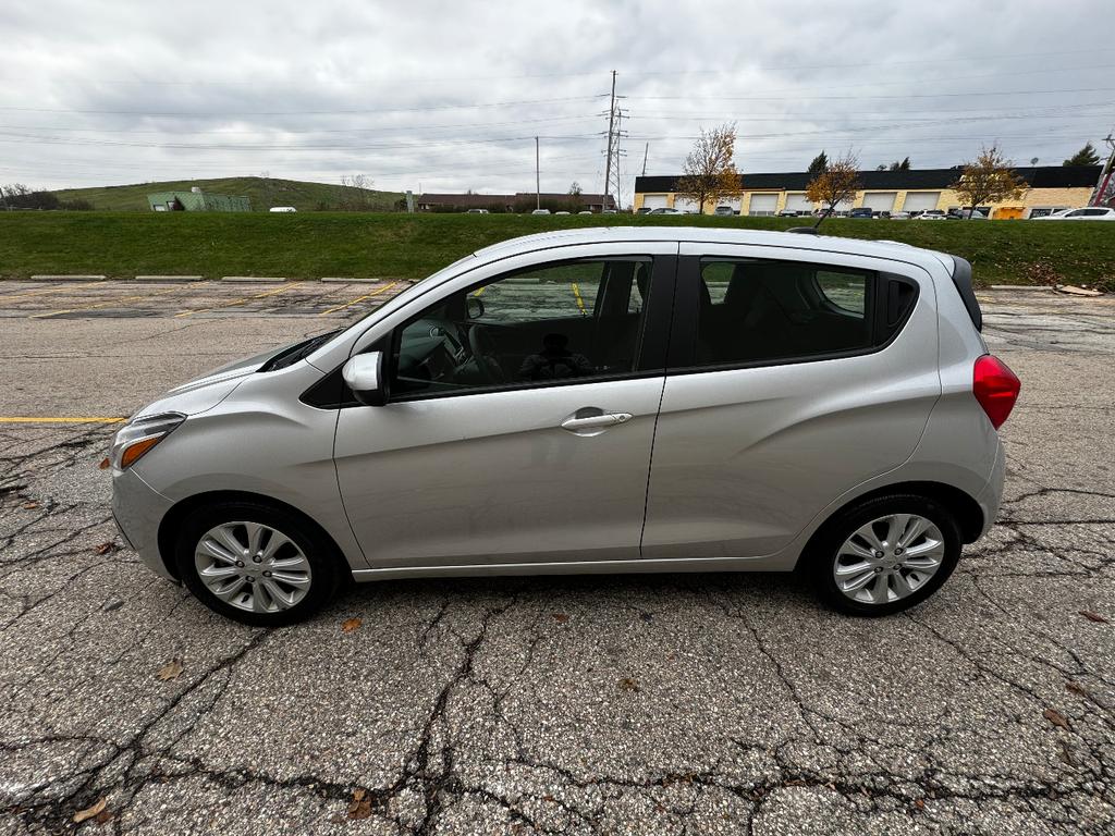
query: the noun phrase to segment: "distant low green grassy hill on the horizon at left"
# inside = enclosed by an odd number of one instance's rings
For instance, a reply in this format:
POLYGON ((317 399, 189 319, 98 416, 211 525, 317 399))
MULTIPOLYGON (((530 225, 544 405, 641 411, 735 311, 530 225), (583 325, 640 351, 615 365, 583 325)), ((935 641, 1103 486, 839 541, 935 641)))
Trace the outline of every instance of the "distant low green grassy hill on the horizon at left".
POLYGON ((112 212, 149 212, 147 195, 153 192, 188 192, 197 186, 215 194, 243 195, 252 202, 252 211, 266 212, 271 206, 293 206, 299 212, 339 210, 346 205, 360 205, 368 211, 390 210, 403 195, 396 192, 375 192, 368 188, 306 183, 297 179, 272 177, 220 177, 217 179, 166 181, 136 183, 127 186, 94 186, 90 188, 62 188, 56 191, 60 201, 85 200, 94 210, 112 212))

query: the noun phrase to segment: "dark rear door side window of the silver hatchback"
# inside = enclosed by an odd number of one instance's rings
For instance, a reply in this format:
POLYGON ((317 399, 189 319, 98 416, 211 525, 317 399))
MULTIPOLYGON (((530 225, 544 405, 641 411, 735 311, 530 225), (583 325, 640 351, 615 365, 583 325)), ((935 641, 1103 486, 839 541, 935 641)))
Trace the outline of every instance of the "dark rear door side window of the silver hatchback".
POLYGON ((808 359, 872 346, 874 273, 705 259, 701 282, 696 346, 701 366, 808 359))

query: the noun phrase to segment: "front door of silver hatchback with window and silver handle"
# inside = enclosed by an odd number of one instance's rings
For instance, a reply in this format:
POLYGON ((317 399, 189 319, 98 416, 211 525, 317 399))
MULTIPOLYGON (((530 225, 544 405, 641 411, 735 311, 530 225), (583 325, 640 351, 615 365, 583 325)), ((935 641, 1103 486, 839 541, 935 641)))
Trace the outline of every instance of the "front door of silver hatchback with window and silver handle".
POLYGON ((334 448, 372 571, 639 557, 676 252, 458 286, 379 343, 388 402, 334 448))

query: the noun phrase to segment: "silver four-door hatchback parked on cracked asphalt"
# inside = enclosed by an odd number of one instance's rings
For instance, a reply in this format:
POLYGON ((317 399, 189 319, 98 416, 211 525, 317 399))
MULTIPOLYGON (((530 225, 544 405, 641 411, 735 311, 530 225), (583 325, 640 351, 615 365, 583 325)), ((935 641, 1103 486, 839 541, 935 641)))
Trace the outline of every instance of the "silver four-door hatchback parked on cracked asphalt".
POLYGON ((883 615, 992 524, 1018 395, 962 259, 723 229, 515 239, 113 444, 155 572, 253 624, 349 581, 803 572, 883 615))

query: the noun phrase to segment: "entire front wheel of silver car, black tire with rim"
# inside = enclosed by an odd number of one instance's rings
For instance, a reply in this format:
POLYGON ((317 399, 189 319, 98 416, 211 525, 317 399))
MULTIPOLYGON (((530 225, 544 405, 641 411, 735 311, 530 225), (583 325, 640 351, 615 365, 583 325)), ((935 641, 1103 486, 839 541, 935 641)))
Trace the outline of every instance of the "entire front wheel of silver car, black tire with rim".
POLYGON ((174 560, 194 597, 254 626, 293 624, 312 615, 333 597, 345 576, 343 558, 317 526, 290 511, 252 502, 192 512, 178 529, 174 560))

